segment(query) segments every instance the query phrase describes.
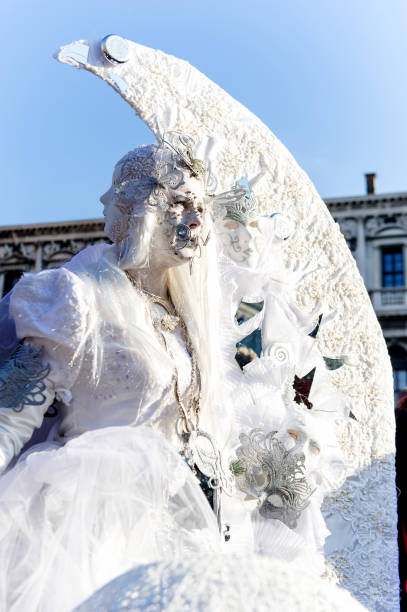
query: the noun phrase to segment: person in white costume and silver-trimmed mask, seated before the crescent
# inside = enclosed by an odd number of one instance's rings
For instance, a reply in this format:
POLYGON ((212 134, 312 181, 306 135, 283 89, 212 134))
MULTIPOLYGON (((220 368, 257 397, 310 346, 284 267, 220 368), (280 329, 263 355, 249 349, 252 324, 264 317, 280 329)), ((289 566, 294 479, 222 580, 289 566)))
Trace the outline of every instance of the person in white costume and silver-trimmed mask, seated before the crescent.
POLYGON ((181 431, 196 426, 215 376, 208 292, 196 288, 195 335, 173 306, 188 320, 182 264, 208 232, 201 177, 151 146, 119 162, 112 189, 102 201, 115 246, 27 275, 10 299, 25 343, 2 369, 3 469, 55 396, 63 408, 56 438, 0 481, 2 609, 70 609, 134 563, 219 545, 215 516, 177 455, 177 421, 181 431), (149 203, 144 192, 129 196, 145 181, 149 203))

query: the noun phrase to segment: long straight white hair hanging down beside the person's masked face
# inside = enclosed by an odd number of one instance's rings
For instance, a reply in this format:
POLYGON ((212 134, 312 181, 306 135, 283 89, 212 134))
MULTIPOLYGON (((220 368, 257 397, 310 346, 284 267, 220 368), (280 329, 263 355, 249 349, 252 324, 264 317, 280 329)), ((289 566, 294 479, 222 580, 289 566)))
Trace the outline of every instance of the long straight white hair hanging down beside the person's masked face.
MULTIPOLYGON (((151 154, 158 147, 153 145, 151 154), (153 148, 154 147, 154 148, 153 148)), ((130 152, 118 162, 114 179, 120 180, 123 167, 135 152, 130 152)), ((185 171, 185 170, 184 170, 185 171)), ((144 215, 131 215, 129 232, 118 244, 118 266, 126 269, 148 269, 151 238, 157 217, 151 206, 145 206, 144 215)), ((187 326, 197 354, 201 376, 201 423, 215 433, 223 429, 220 412, 226 417, 225 398, 222 397, 222 352, 220 348, 220 287, 215 236, 212 219, 208 211, 204 214, 202 235, 209 235, 206 246, 200 249, 190 267, 188 262, 168 270, 168 291, 171 299, 187 326)), ((219 431, 220 433, 220 431, 219 431)))

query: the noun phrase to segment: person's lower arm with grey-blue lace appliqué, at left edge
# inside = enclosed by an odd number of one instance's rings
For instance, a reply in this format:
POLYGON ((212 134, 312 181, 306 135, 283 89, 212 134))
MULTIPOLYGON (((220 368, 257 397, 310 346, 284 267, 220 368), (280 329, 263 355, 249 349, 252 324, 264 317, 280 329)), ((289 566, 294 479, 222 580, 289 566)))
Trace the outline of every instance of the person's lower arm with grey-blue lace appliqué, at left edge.
POLYGON ((25 343, 0 368, 0 473, 41 426, 55 397, 43 351, 25 343))

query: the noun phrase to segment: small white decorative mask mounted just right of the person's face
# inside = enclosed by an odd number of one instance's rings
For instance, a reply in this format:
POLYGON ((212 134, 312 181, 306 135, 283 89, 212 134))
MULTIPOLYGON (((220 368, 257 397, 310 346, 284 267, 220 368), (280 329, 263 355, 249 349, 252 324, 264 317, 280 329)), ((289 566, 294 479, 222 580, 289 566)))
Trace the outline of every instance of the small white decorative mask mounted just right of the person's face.
POLYGON ((264 237, 256 220, 243 225, 225 218, 217 224, 217 233, 227 255, 248 268, 255 268, 264 248, 264 237))

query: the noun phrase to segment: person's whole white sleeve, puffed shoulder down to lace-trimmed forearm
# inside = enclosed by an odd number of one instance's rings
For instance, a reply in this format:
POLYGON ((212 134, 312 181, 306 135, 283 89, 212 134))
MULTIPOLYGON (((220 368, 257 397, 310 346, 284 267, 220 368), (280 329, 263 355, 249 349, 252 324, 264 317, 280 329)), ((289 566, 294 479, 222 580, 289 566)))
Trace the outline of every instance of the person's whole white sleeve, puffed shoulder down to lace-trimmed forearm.
POLYGON ((24 344, 0 368, 0 472, 55 395, 69 402, 86 339, 84 295, 83 281, 64 268, 28 274, 13 290, 10 316, 24 344))

